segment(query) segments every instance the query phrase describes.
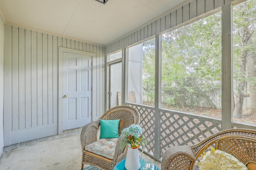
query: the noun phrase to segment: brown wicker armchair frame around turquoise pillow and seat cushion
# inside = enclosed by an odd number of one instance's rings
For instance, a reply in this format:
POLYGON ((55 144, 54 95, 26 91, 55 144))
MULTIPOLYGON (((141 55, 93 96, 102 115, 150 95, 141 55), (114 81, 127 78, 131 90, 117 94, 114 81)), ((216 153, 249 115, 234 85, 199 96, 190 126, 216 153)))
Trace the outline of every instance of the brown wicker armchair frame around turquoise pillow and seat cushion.
POLYGON ((98 129, 100 127, 101 120, 116 120, 120 119, 118 125, 118 134, 120 136, 124 128, 129 127, 132 124, 138 124, 140 121, 140 115, 136 109, 130 106, 117 106, 109 109, 98 120, 88 123, 82 128, 81 131, 81 145, 82 145, 82 166, 89 164, 105 170, 112 170, 116 164, 126 158, 127 146, 124 150, 120 150, 120 138, 116 142, 116 148, 114 151, 114 159, 109 159, 104 156, 89 152, 85 150, 86 145, 96 142, 98 129))

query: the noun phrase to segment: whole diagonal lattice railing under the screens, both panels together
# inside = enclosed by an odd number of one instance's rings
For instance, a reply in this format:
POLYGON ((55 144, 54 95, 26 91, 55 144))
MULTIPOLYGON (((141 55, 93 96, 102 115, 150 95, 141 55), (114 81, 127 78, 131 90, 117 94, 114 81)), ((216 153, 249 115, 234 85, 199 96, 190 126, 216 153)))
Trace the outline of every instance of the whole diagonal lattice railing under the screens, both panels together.
POLYGON ((204 138, 219 132, 221 120, 160 109, 160 136, 155 136, 155 111, 153 107, 131 104, 140 113, 140 126, 143 135, 148 138, 145 151, 152 154, 158 146, 154 146, 155 139, 160 138, 160 157, 170 146, 196 144, 204 138))

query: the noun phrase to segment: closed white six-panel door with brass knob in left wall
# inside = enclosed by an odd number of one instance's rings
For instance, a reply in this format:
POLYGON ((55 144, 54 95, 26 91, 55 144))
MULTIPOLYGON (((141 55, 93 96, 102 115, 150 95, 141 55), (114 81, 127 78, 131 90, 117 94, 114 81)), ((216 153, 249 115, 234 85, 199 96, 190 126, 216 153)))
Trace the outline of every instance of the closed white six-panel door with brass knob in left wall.
POLYGON ((92 56, 63 53, 63 130, 92 121, 92 56))

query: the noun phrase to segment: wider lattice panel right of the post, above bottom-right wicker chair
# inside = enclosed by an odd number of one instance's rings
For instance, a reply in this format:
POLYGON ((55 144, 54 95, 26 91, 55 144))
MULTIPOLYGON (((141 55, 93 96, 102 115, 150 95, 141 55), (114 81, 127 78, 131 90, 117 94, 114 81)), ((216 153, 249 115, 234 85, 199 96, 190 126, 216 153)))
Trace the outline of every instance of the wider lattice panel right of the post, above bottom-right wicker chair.
POLYGON ((220 121, 184 113, 160 112, 161 156, 176 145, 192 145, 220 131, 220 121))

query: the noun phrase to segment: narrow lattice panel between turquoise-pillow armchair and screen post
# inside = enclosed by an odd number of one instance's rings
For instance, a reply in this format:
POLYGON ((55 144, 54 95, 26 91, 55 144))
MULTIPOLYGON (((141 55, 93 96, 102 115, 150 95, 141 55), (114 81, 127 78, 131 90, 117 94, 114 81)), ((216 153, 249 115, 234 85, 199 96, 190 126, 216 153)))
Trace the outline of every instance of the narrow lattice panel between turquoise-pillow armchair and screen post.
POLYGON ((130 106, 137 109, 137 111, 140 113, 140 126, 143 128, 143 135, 148 139, 148 144, 145 146, 145 150, 151 154, 154 154, 154 109, 143 106, 130 106))

